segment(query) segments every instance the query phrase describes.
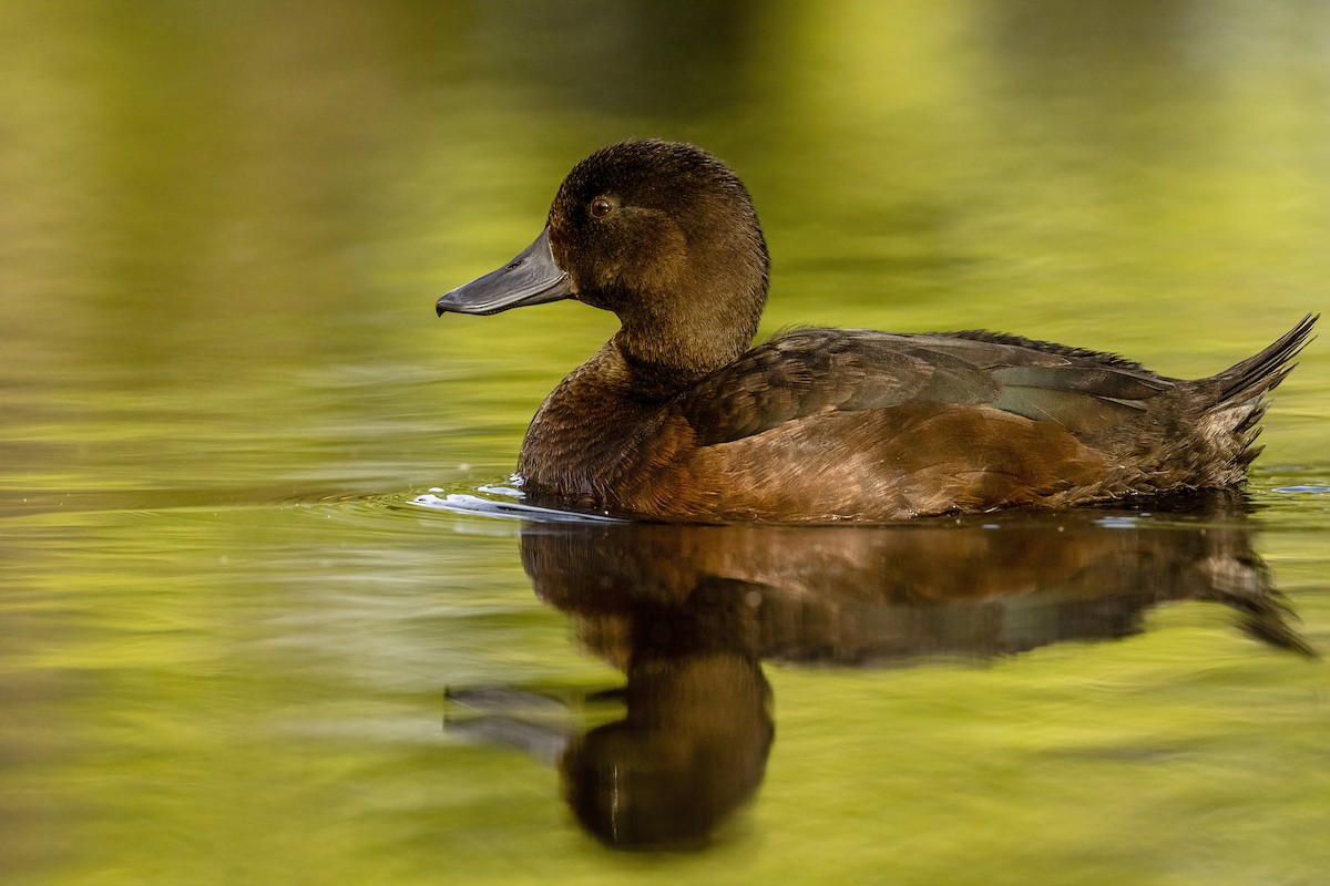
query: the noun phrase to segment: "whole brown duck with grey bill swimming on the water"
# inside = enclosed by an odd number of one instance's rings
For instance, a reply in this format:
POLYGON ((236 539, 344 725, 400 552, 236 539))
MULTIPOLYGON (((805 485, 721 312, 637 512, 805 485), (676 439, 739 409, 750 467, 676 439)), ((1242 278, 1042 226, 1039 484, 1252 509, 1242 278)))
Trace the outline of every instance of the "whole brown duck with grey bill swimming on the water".
POLYGON ((1241 487, 1266 395, 1318 315, 1205 379, 1003 332, 799 327, 753 345, 770 258, 706 150, 637 139, 559 186, 535 242, 436 302, 575 299, 614 336, 544 400, 515 480, 536 505, 642 521, 894 522, 1241 487))

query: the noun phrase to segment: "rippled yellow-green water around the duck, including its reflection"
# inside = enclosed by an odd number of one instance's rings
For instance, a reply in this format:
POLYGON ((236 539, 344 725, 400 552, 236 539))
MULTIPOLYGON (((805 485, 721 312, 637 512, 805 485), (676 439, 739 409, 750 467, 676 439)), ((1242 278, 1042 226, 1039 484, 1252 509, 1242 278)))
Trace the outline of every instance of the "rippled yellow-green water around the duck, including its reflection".
POLYGON ((1278 646, 1330 650, 1323 344, 1250 513, 685 531, 485 503, 609 317, 432 315, 658 134, 750 186, 763 333, 1217 371, 1326 307, 1322 4, 19 1, 0 41, 0 879, 1330 871, 1325 664, 1278 646), (560 758, 644 780, 618 845, 706 833, 606 847, 560 758))

